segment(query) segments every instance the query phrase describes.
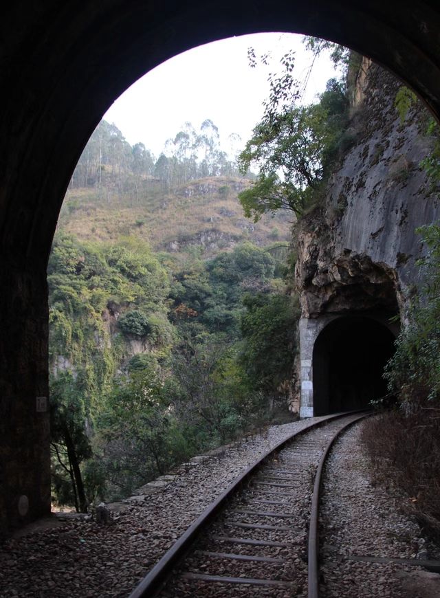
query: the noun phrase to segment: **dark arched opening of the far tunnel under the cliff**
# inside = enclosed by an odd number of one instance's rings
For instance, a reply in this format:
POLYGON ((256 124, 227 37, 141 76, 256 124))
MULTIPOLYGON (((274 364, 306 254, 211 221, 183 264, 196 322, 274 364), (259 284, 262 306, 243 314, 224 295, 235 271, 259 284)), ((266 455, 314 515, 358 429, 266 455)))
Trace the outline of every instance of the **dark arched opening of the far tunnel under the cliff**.
POLYGON ((386 395, 382 374, 394 341, 388 327, 373 318, 330 322, 314 344, 314 415, 362 409, 386 395))

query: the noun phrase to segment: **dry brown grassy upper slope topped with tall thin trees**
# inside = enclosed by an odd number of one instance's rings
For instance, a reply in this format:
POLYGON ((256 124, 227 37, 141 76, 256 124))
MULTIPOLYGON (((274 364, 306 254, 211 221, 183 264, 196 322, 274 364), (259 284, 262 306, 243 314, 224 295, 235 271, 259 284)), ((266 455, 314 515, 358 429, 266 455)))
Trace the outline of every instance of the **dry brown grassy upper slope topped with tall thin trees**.
POLYGON ((135 235, 153 250, 176 255, 192 248, 213 256, 240 241, 260 247, 289 242, 291 214, 281 211, 259 223, 243 215, 237 195, 252 185, 250 173, 239 176, 217 144, 207 145, 206 133, 195 136, 187 157, 182 138, 188 142, 188 133, 177 133, 168 142, 170 157, 156 160, 102 121, 78 162, 58 228, 87 241, 135 235))

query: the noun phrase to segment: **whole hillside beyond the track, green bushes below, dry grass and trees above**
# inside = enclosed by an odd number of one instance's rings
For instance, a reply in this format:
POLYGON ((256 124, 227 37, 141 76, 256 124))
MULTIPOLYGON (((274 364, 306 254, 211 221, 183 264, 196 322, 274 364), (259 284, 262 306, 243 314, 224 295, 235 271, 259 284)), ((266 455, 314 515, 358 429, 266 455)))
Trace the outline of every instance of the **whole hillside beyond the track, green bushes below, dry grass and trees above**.
POLYGON ((47 271, 61 504, 127 496, 265 423, 277 401, 287 415, 292 217, 245 219, 250 178, 213 127, 192 153, 181 132, 155 159, 102 122, 78 162, 47 271))

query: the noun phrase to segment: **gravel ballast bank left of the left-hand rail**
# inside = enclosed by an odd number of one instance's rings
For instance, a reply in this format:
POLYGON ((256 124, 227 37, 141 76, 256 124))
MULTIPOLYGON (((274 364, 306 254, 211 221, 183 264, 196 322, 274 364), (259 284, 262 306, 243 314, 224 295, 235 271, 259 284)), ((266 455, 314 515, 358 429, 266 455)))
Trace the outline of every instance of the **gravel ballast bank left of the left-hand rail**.
MULTIPOLYGON (((126 503, 111 524, 72 520, 0 546, 1 598, 126 597, 243 469, 320 417, 268 428, 217 456, 181 466, 155 494, 126 503)), ((197 460, 196 460, 197 461, 197 460)))

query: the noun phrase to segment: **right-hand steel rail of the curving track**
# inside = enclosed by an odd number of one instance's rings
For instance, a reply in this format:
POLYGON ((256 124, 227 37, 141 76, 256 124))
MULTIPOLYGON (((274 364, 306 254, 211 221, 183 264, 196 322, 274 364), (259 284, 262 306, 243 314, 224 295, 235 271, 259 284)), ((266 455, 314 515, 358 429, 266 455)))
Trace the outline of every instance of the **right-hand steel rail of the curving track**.
POLYGON ((308 598, 319 598, 319 566, 318 566, 318 553, 319 553, 319 538, 318 538, 318 526, 319 526, 319 501, 320 501, 320 489, 322 484, 322 472, 324 471, 327 457, 333 447, 333 444, 338 440, 342 432, 345 432, 351 425, 368 417, 369 413, 364 413, 353 419, 340 428, 338 432, 333 436, 331 441, 325 447, 325 451, 321 456, 318 469, 316 470, 314 492, 311 497, 311 509, 310 509, 310 523, 309 523, 309 542, 308 542, 308 598))

